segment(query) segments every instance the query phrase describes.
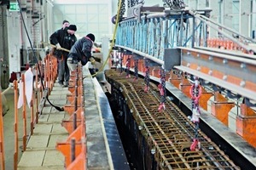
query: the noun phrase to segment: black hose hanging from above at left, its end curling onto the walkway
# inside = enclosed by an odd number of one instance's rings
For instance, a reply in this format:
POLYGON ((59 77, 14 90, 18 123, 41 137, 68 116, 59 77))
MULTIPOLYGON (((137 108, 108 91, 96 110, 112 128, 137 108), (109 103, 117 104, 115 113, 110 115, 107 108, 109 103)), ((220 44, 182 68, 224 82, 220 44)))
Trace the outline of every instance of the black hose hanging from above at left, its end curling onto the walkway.
MULTIPOLYGON (((20 0, 18 0, 17 3, 18 3, 19 8, 20 8, 20 10, 21 10, 20 0)), ((37 65, 38 65, 38 72, 39 72, 39 76, 40 76, 40 81, 41 81, 41 84, 42 84, 42 88, 43 88, 43 90, 44 90, 44 89, 45 89, 45 88, 44 88, 44 82, 43 82, 42 74, 41 74, 41 71, 40 71, 40 66, 39 66, 39 64, 38 64, 38 59, 37 59, 37 57, 36 57, 35 50, 34 50, 34 48, 33 48, 33 46, 32 46, 31 39, 30 39, 30 37, 29 37, 29 35, 28 35, 27 29, 26 29, 26 24, 25 24, 25 21, 24 21, 24 18, 23 18, 23 14, 22 14, 21 11, 20 11, 20 17, 21 17, 23 26, 24 26, 25 31, 26 31, 26 37, 28 38, 28 41, 29 41, 29 43, 30 43, 30 47, 32 48, 33 57, 34 57, 34 59, 36 60, 36 63, 37 63, 37 65)), ((46 100, 48 101, 49 105, 55 107, 55 109, 56 109, 57 111, 64 111, 64 108, 63 108, 63 107, 59 107, 59 106, 53 105, 53 104, 49 101, 48 95, 46 96, 46 100)))

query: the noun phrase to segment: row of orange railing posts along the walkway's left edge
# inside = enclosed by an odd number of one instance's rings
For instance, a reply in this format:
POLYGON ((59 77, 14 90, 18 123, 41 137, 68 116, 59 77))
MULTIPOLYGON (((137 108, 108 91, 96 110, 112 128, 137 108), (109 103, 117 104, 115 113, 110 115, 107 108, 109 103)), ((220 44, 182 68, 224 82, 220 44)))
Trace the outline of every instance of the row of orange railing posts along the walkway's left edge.
MULTIPOLYGON (((38 123, 38 114, 39 114, 39 110, 38 110, 38 105, 40 105, 40 102, 38 101, 38 98, 43 97, 43 90, 42 90, 42 84, 38 84, 39 79, 44 79, 44 85, 46 85, 46 88, 49 88, 49 92, 52 89, 51 87, 53 86, 54 82, 55 82, 55 78, 56 78, 56 70, 55 68, 57 68, 57 62, 55 57, 53 56, 46 56, 45 60, 44 60, 44 65, 42 65, 42 63, 38 63, 38 65, 35 65, 33 69, 35 69, 35 79, 33 82, 33 87, 32 88, 32 99, 31 102, 29 103, 30 106, 30 133, 29 135, 33 134, 33 129, 34 129, 34 125, 36 123, 38 123), (39 73, 39 69, 40 69, 40 73, 41 73, 41 77, 38 77, 38 73, 39 73)), ((32 68, 30 68, 32 71, 32 68)), ((28 69, 29 70, 29 69, 28 69)), ((18 153, 19 153, 19 136, 18 136, 18 94, 19 94, 19 88, 18 88, 18 82, 14 81, 14 90, 15 90, 15 122, 14 122, 14 133, 15 133, 15 152, 14 152, 14 169, 17 169, 17 165, 18 165, 18 153)), ((22 73, 21 74, 21 79, 20 82, 22 82, 23 86, 22 87, 22 96, 20 96, 20 98, 22 98, 23 102, 22 102, 22 122, 23 122, 23 136, 22 136, 22 151, 26 150, 26 144, 27 144, 27 130, 26 130, 26 122, 27 122, 27 111, 26 111, 26 77, 25 74, 22 73)), ((19 83, 20 83, 19 82, 19 83)), ((41 82, 41 81, 40 81, 41 82)), ((42 81, 43 82, 43 81, 42 81)), ((1 122, 1 121, 0 121, 1 122)))

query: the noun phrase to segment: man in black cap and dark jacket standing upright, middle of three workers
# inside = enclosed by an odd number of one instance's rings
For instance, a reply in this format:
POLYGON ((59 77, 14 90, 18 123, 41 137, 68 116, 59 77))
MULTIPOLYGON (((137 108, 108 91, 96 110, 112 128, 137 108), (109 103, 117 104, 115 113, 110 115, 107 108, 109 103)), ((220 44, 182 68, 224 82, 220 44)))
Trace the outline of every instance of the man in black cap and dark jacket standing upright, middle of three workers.
POLYGON ((50 37, 49 41, 55 45, 55 52, 53 54, 58 59, 58 81, 61 87, 68 86, 69 70, 67 67, 68 50, 77 41, 74 33, 77 31, 77 26, 70 25, 55 31, 50 37))

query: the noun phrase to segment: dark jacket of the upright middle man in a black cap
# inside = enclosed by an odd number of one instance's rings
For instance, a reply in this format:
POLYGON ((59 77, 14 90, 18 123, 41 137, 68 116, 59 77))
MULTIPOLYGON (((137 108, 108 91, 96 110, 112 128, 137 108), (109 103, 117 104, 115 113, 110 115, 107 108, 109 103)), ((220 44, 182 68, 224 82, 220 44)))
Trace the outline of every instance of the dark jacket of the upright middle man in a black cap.
MULTIPOLYGON (((74 42, 77 41, 77 37, 75 35, 68 34, 67 27, 65 29, 60 29, 55 31, 50 37, 49 42, 53 45, 56 45, 57 43, 60 43, 61 48, 70 49, 74 42)), ((54 54, 57 58, 61 57, 61 54, 64 55, 64 57, 67 57, 68 52, 65 52, 63 50, 55 50, 54 54)))

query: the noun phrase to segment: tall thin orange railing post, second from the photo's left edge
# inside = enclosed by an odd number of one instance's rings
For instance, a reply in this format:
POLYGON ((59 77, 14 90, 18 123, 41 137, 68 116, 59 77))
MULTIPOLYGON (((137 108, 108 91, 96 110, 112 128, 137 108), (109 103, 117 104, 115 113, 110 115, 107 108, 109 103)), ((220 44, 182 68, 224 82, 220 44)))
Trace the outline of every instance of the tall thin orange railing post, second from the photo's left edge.
POLYGON ((18 136, 18 82, 14 81, 15 89, 15 122, 14 122, 14 131, 15 131, 15 153, 14 153, 14 170, 18 167, 18 157, 19 157, 19 136, 18 136))

